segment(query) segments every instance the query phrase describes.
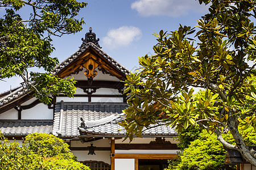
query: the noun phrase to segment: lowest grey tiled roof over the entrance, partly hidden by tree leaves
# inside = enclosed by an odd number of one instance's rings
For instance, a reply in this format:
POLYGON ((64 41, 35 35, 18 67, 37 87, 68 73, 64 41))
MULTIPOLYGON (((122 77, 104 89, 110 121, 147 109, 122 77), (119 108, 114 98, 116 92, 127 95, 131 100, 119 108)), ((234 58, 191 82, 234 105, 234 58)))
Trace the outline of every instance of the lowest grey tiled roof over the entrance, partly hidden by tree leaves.
MULTIPOLYGON (((106 118, 102 120, 98 120, 98 124, 95 126, 86 126, 85 128, 79 128, 79 131, 82 134, 96 134, 96 135, 121 135, 125 136, 126 131, 123 130, 123 127, 118 125, 117 122, 121 122, 124 120, 124 116, 115 116, 109 117, 109 122, 106 122, 106 118), (122 129, 122 130, 121 130, 122 129)), ((90 122, 87 122, 90 124, 90 122)), ((85 121, 86 125, 86 121, 85 121)), ((143 129, 143 136, 172 136, 177 135, 175 129, 172 129, 168 126, 156 126, 150 129, 143 129)))

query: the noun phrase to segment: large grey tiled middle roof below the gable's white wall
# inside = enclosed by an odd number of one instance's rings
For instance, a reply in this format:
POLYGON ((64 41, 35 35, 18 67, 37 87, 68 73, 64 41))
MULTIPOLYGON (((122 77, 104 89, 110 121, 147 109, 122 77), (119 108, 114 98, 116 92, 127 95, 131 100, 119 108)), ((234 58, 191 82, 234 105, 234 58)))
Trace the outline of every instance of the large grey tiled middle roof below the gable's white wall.
POLYGON ((78 137, 81 117, 85 122, 100 120, 111 115, 117 116, 126 107, 125 103, 64 103, 60 122, 60 104, 56 104, 52 133, 60 137, 78 137))

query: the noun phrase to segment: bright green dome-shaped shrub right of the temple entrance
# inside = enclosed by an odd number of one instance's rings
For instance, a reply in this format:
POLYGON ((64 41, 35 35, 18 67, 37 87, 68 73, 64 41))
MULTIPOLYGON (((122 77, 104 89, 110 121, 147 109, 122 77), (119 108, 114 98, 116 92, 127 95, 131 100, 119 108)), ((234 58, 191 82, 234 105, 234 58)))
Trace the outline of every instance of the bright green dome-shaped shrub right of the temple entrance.
MULTIPOLYGON (((216 135, 204 130, 180 155, 180 163, 172 169, 226 169, 226 150, 217 141, 216 135)), ((233 168, 234 169, 234 168, 233 168)))

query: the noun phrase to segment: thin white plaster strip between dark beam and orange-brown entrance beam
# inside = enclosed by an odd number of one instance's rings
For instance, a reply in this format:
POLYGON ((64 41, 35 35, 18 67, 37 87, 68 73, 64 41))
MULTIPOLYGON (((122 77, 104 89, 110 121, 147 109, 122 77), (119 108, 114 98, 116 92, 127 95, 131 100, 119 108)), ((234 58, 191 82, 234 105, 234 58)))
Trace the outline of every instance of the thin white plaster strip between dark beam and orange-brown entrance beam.
POLYGON ((177 154, 179 150, 115 150, 115 154, 177 154))

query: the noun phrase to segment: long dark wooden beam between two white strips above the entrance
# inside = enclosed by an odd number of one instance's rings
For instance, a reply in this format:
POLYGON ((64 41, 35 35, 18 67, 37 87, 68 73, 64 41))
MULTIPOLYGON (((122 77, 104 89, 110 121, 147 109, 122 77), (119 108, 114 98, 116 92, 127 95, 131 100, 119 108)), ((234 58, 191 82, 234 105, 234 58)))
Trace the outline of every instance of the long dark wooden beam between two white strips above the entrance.
POLYGON ((115 150, 179 150, 176 144, 115 144, 115 150))

